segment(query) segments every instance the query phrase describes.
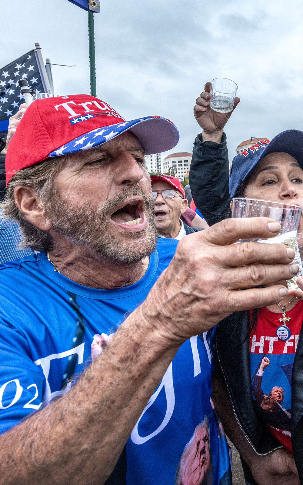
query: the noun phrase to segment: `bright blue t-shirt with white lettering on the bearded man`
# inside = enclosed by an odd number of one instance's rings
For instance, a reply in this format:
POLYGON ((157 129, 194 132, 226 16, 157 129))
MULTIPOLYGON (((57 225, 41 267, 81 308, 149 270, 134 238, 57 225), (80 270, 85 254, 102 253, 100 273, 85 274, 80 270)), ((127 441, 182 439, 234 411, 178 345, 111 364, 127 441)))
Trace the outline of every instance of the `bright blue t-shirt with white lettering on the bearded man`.
MULTIPOLYGON (((144 301, 176 244, 158 240, 145 275, 116 290, 69 280, 45 252, 0 267, 0 433, 83 371, 93 336, 114 332, 144 301)), ((196 484, 231 483, 226 439, 210 402, 211 342, 208 332, 181 345, 128 439, 114 470, 119 482, 109 483, 187 485, 190 476, 196 484)))

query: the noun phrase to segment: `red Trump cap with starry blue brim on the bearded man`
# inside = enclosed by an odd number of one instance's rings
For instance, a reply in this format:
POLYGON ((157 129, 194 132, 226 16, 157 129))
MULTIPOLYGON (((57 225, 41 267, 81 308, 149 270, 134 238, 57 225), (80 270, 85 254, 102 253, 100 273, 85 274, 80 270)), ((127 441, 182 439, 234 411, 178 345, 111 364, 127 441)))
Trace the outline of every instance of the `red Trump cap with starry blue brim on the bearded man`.
POLYGON ((36 99, 27 108, 5 158, 6 183, 21 168, 49 157, 88 150, 131 131, 150 155, 179 140, 174 123, 162 116, 126 121, 108 103, 90 95, 36 99))

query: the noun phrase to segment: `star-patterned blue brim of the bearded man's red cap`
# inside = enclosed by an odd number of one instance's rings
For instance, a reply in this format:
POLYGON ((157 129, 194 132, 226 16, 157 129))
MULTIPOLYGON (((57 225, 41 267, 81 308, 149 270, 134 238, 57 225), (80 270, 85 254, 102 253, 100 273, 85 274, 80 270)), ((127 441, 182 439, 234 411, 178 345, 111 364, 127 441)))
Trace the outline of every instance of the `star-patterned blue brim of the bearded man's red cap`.
POLYGON ((144 116, 144 118, 125 121, 124 123, 95 128, 60 146, 57 150, 49 153, 48 156, 58 157, 67 153, 89 150, 128 130, 136 135, 140 144, 144 147, 145 155, 170 150, 179 140, 179 132, 169 119, 162 116, 144 116))

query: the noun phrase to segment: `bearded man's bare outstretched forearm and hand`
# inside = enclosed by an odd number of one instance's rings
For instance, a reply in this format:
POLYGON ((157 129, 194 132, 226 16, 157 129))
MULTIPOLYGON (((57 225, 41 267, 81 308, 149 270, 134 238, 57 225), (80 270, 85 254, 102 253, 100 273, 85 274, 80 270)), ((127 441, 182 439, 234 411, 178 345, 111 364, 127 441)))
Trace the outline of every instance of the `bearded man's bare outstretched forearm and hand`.
POLYGON ((266 218, 228 219, 183 238, 144 303, 74 388, 0 436, 0 484, 103 484, 178 347, 234 311, 285 296, 284 286, 271 285, 298 270, 294 251, 234 244, 279 230, 266 218))

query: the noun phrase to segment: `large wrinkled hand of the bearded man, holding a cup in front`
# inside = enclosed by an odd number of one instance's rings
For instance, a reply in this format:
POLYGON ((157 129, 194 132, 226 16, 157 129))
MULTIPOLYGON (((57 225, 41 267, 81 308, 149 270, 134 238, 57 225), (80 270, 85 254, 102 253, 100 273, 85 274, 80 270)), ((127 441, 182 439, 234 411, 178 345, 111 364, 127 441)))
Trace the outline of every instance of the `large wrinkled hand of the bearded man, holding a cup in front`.
POLYGON ((290 264, 294 251, 282 244, 234 244, 240 238, 270 238, 278 231, 272 219, 235 218, 183 238, 142 304, 143 318, 179 344, 234 311, 281 301, 287 289, 274 283, 298 271, 290 264), (258 285, 269 286, 254 288, 258 285))

